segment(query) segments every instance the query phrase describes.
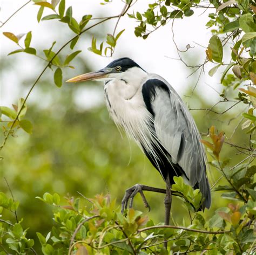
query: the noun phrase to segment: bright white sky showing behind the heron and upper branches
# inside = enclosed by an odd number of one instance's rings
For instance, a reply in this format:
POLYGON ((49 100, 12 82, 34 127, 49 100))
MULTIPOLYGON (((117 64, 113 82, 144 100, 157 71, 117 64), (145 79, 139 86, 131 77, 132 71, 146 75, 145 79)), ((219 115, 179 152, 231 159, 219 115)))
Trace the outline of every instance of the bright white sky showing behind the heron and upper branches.
MULTIPOLYGON (((1 0, 0 20, 3 22, 26 2, 27 1, 24 0, 1 0)), ((124 3, 120 0, 113 0, 112 3, 107 5, 100 5, 100 2, 103 1, 66 0, 66 7, 72 4, 73 17, 79 20, 85 14, 92 14, 95 17, 117 15, 124 6, 124 3)), ((132 13, 132 10, 145 11, 148 3, 150 3, 150 1, 139 0, 134 4, 129 13, 132 13)), ((31 46, 37 47, 38 45, 41 45, 45 46, 45 49, 48 49, 54 40, 57 40, 57 47, 55 48, 57 49, 60 45, 70 39, 70 34, 65 34, 66 28, 63 30, 60 37, 59 34, 58 37, 56 37, 55 30, 51 29, 51 25, 58 25, 60 30, 62 27, 65 27, 65 24, 59 23, 57 20, 44 21, 38 24, 36 20, 38 8, 39 6, 33 5, 32 3, 28 4, 0 29, 0 57, 4 55, 6 56, 9 52, 17 49, 15 43, 3 36, 2 32, 5 31, 12 32, 15 35, 32 31, 31 46)), ((45 11, 43 16, 49 13, 50 11, 45 11)), ((205 48, 196 43, 207 46, 208 40, 211 37, 211 31, 206 30, 205 26, 208 20, 207 13, 209 13, 209 11, 206 11, 205 13, 203 13, 202 10, 196 11, 193 16, 178 19, 174 22, 175 40, 180 50, 185 50, 187 44, 194 46, 193 49, 190 49, 187 52, 187 56, 189 56, 190 59, 195 60, 194 64, 202 63, 205 59, 205 48)), ((112 33, 114 25, 115 23, 113 20, 109 21, 106 26, 106 31, 112 33)), ((91 38, 86 37, 86 35, 82 36, 79 44, 76 46, 76 50, 83 50, 83 52, 80 53, 80 57, 84 58, 84 61, 88 61, 92 66, 92 69, 95 70, 106 66, 113 59, 130 57, 147 72, 157 73, 164 77, 177 90, 181 97, 183 97, 186 86, 191 84, 191 82, 196 84, 199 73, 193 75, 190 79, 187 79, 186 77, 191 73, 191 70, 186 68, 181 61, 171 59, 178 57, 176 47, 172 42, 171 22, 152 33, 146 40, 137 38, 134 35, 134 26, 136 26, 136 22, 133 19, 127 16, 122 17, 118 24, 117 32, 122 29, 125 29, 125 32, 118 40, 112 58, 103 58, 87 51, 87 47, 90 47, 91 38)), ((19 75, 27 75, 35 80, 38 74, 42 71, 42 67, 37 68, 37 66, 35 66, 35 63, 38 61, 37 59, 35 60, 35 56, 29 56, 24 53, 19 53, 15 57, 14 56, 9 56, 8 58, 17 57, 17 63, 10 66, 7 72, 2 72, 0 70, 1 105, 10 106, 14 100, 16 100, 16 97, 25 97, 26 91, 19 91, 17 89, 19 87, 17 72, 19 75)), ((212 100, 213 98, 215 99, 218 95, 208 87, 205 82, 220 90, 220 85, 218 85, 219 75, 215 75, 211 78, 207 74, 208 70, 213 66, 213 64, 208 64, 206 66, 206 75, 199 81, 197 86, 197 91, 200 91, 200 93, 204 97, 208 97, 209 100, 212 100)), ((72 73, 64 73, 64 79, 70 78, 70 74, 71 76, 75 76, 80 73, 77 73, 76 70, 73 70, 72 73)), ((63 86, 68 85, 64 84, 63 86)), ((31 96, 31 100, 32 99, 33 95, 31 96)), ((98 104, 102 99, 102 95, 95 95, 90 88, 80 89, 77 94, 77 104, 82 108, 86 108, 88 100, 94 100, 94 103, 98 104)), ((93 105, 93 102, 89 104, 93 105)))

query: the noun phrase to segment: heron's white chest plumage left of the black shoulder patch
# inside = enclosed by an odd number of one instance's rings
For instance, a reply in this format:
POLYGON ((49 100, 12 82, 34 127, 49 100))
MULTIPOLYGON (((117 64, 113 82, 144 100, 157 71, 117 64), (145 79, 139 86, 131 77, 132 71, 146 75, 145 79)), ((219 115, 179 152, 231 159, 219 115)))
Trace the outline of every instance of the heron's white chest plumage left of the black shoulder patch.
POLYGON ((143 100, 142 87, 113 80, 105 84, 104 90, 113 121, 136 139, 142 132, 145 133, 150 116, 143 100))

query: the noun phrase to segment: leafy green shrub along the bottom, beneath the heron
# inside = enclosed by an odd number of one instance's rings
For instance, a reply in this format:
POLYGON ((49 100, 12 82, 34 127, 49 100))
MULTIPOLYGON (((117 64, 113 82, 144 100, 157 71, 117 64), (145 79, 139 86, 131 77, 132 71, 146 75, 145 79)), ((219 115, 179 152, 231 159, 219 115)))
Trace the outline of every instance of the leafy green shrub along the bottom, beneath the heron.
MULTIPOLYGON (((214 164, 214 161, 212 162, 214 164)), ((34 240, 26 237, 22 221, 12 223, 1 219, 1 245, 5 252, 18 254, 169 254, 172 252, 208 251, 208 254, 253 254, 255 252, 253 221, 256 215, 255 166, 240 166, 224 169, 218 161, 220 171, 230 183, 217 187, 225 190, 223 197, 234 200, 227 207, 219 208, 206 221, 199 208, 199 190, 193 190, 176 177, 172 186, 174 194, 179 191, 180 199, 188 211, 192 211, 191 224, 187 227, 154 224, 153 220, 140 211, 129 209, 125 215, 110 196, 97 195, 93 199, 66 197, 60 205, 58 194, 45 193, 37 197, 53 207, 53 226, 45 236, 37 232, 41 251, 33 250, 34 240), (241 203, 238 203, 240 201, 241 203), (88 205, 89 204, 89 205, 88 205), (191 206, 193 205, 193 207, 191 206), (168 249, 163 248, 167 240, 168 249), (228 253, 230 254, 230 253, 228 253)), ((1 210, 15 212, 18 203, 5 194, 0 194, 1 210)), ((2 252, 4 254, 4 252, 2 252)))

